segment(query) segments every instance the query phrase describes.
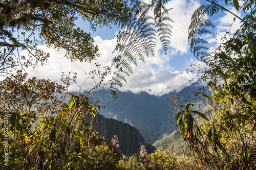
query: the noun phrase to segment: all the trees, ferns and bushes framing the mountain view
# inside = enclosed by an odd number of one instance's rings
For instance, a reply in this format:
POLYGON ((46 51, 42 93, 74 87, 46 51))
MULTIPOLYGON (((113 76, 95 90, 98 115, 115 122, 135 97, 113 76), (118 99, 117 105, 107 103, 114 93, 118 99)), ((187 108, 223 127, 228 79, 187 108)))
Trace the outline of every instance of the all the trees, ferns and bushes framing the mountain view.
MULTIPOLYGON (((92 132, 91 122, 84 121, 84 115, 93 117, 100 106, 87 95, 68 94, 75 76, 71 79, 63 75, 66 86, 60 86, 50 80, 27 79, 27 74, 20 70, 12 74, 7 68, 31 65, 31 58, 36 64, 46 60, 49 55, 36 48, 39 43, 64 48, 71 60, 90 61, 97 57, 98 49, 92 45, 90 34, 73 29, 75 14, 79 13, 91 22, 93 29, 98 25, 110 26, 112 22, 120 23, 124 29, 116 48, 121 55, 113 60, 118 71, 112 85, 121 85, 120 80, 125 80, 122 74, 132 72, 130 63, 136 64, 136 58, 143 60, 142 54, 154 54, 156 44, 151 41, 155 37, 160 36, 163 49, 167 49, 171 31, 164 21, 171 20, 166 17, 169 10, 165 9, 166 1, 150 4, 132 1, 132 7, 136 8, 127 7, 126 1, 99 1, 100 4, 95 1, 1 1, 0 69, 7 75, 0 82, 1 168, 256 169, 256 1, 245 0, 241 6, 238 0, 207 2, 210 3, 194 13, 188 38, 195 56, 208 65, 200 69, 199 74, 208 83, 212 95, 204 91, 198 94, 207 99, 211 112, 205 115, 191 109, 193 103, 177 108, 175 121, 189 147, 186 156, 177 156, 166 148, 147 154, 141 146, 140 154, 125 157, 114 149, 114 145, 118 145, 116 136, 106 143, 97 132, 92 132), (224 41, 212 55, 202 36, 211 33, 207 27, 214 27, 208 16, 228 11, 224 3, 243 10, 246 15, 240 18, 232 13, 241 20, 242 26, 231 38, 223 37, 224 41), (111 9, 116 7, 112 13, 111 9), (154 11, 155 25, 146 15, 150 9, 154 11), (39 37, 34 36, 36 32, 39 37), (141 45, 142 42, 150 47, 141 45), (80 45, 88 48, 77 53, 80 45), (137 46, 138 51, 131 51, 137 46), (27 50, 29 60, 16 57, 15 49, 27 50), (64 95, 59 97, 59 93, 64 95), (64 103, 66 96, 67 104, 64 103), (200 121, 195 115, 201 117, 200 121)), ((97 75, 100 81, 92 90, 109 73, 110 67, 104 67, 102 73, 94 70, 92 75, 97 75)))

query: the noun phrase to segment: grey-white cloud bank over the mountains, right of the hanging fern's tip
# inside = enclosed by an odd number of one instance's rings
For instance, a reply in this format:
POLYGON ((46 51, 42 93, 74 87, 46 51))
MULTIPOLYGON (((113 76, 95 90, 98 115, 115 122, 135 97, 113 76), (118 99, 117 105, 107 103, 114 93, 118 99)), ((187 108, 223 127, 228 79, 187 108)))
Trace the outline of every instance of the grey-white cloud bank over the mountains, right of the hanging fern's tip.
POLYGON ((123 84, 120 90, 130 90, 137 93, 151 89, 147 92, 155 95, 175 90, 179 91, 190 85, 189 80, 196 78, 186 71, 187 68, 191 69, 190 65, 194 63, 199 63, 201 67, 205 65, 201 61, 190 59, 189 61, 184 61, 185 65, 182 69, 172 72, 170 71, 170 65, 165 62, 165 56, 155 58, 147 58, 145 64, 140 64, 139 67, 134 68, 134 74, 127 78, 127 84, 123 84), (154 60, 155 58, 157 58, 157 62, 154 60), (153 63, 159 65, 158 70, 152 68, 151 65, 153 63))

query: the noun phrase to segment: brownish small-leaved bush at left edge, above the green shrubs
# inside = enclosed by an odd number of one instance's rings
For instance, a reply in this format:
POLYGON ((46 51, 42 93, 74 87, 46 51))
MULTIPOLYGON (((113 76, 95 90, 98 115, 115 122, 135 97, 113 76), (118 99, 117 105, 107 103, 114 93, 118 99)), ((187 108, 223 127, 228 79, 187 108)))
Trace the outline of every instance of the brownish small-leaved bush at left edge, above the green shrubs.
POLYGON ((65 87, 50 80, 37 80, 35 77, 26 80, 27 76, 27 73, 23 74, 18 70, 17 74, 11 74, 1 81, 0 114, 14 111, 31 116, 55 114, 56 106, 60 104, 56 94, 64 92, 65 87), (48 113, 49 110, 51 112, 48 113))

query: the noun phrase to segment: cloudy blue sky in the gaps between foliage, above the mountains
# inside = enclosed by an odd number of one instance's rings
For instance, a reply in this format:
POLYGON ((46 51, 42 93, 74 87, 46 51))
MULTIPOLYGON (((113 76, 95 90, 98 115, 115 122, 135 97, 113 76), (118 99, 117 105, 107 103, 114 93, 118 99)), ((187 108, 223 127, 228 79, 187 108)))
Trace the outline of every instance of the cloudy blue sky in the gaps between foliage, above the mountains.
MULTIPOLYGON (((193 75, 186 71, 187 69, 191 69, 190 65, 195 63, 200 64, 202 67, 205 65, 203 62, 197 60, 190 52, 187 41, 190 18, 194 11, 200 7, 200 1, 173 0, 167 4, 167 7, 173 8, 170 10, 169 15, 174 20, 172 24, 172 40, 168 54, 164 55, 161 53, 161 45, 158 44, 158 50, 154 57, 145 58, 144 63, 138 61, 137 67, 132 65, 133 75, 126 77, 127 82, 123 82, 122 87, 117 87, 118 90, 130 90, 134 93, 147 91, 155 95, 162 95, 171 91, 178 92, 191 84, 189 80, 193 78, 193 75)), ((237 13, 234 9, 230 8, 229 10, 237 13)), ((212 46, 218 45, 221 36, 228 30, 230 30, 230 33, 234 33, 240 26, 238 20, 232 23, 233 16, 225 12, 218 15, 218 17, 211 18, 211 20, 214 22, 218 34, 208 35, 205 38, 212 46), (230 28, 231 24, 232 27, 230 28)), ((79 21, 77 26, 91 32, 87 23, 79 21)), ((65 52, 56 52, 52 48, 40 46, 42 50, 49 52, 51 57, 48 63, 42 67, 28 68, 29 76, 35 76, 38 79, 56 80, 58 83, 61 83, 61 72, 65 72, 66 75, 68 75, 69 71, 76 72, 79 86, 87 80, 81 87, 81 90, 91 89, 95 83, 88 79, 88 73, 90 70, 96 69, 94 64, 96 62, 101 64, 101 70, 103 70, 103 66, 111 66, 112 59, 115 56, 113 51, 116 46, 116 35, 118 31, 120 31, 120 28, 114 26, 113 29, 106 30, 106 28, 102 28, 92 33, 92 37, 95 40, 95 44, 98 45, 101 55, 97 61, 92 61, 92 63, 71 62, 63 57, 65 56, 65 52)), ((111 77, 112 75, 108 75, 105 80, 110 80, 111 77)), ((104 87, 108 88, 109 86, 104 87)), ((70 91, 79 91, 79 89, 76 84, 71 84, 69 87, 70 91)))

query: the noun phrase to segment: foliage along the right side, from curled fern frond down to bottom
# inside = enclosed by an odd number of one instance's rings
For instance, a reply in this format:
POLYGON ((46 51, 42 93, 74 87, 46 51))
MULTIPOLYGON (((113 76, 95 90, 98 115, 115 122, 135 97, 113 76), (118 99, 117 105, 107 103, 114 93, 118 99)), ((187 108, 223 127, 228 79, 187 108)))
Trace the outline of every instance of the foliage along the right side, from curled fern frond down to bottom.
MULTIPOLYGON (((207 25, 210 23, 208 20, 202 20, 196 25, 195 22, 197 22, 196 18, 203 19, 206 14, 227 11, 218 2, 212 1, 210 5, 203 5, 195 12, 189 34, 191 49, 194 52, 196 50, 196 57, 201 58, 208 65, 206 69, 200 71, 212 91, 212 96, 203 94, 212 109, 211 118, 208 120, 201 113, 200 116, 206 122, 202 126, 193 126, 196 124, 192 124, 194 120, 189 116, 190 104, 187 104, 182 106, 185 110, 177 114, 176 120, 183 138, 189 142, 191 154, 204 166, 204 169, 255 169, 256 39, 252 20, 255 20, 256 2, 244 1, 240 7, 238 1, 232 1, 237 10, 243 9, 244 12, 248 12, 243 19, 239 18, 243 25, 233 37, 223 37, 224 41, 216 48, 214 56, 205 58, 209 56, 204 52, 201 53, 202 48, 200 49, 199 44, 206 41, 197 36, 201 34, 201 27, 211 25, 207 25), (198 43, 193 42, 195 38, 198 43), (181 119, 179 119, 180 115, 181 119)), ((225 3, 227 4, 228 1, 225 3)))

